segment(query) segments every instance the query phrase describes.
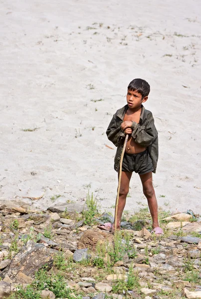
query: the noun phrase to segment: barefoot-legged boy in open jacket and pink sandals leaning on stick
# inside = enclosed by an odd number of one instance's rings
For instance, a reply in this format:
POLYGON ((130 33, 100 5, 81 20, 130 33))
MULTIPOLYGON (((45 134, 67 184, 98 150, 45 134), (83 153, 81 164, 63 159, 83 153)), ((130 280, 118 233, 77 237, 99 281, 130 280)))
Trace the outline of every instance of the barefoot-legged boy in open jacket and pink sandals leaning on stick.
MULTIPOLYGON (((133 171, 140 175, 143 192, 152 215, 153 233, 162 235, 158 222, 158 204, 152 184, 152 172, 156 172, 158 161, 158 132, 152 113, 142 103, 148 100, 150 85, 142 79, 134 79, 128 86, 127 105, 117 110, 106 131, 108 139, 117 147, 114 169, 118 172, 125 136, 128 134, 123 163, 117 211, 117 229, 126 204, 129 183, 133 171)), ((100 229, 113 231, 114 224, 105 223, 100 229)))

